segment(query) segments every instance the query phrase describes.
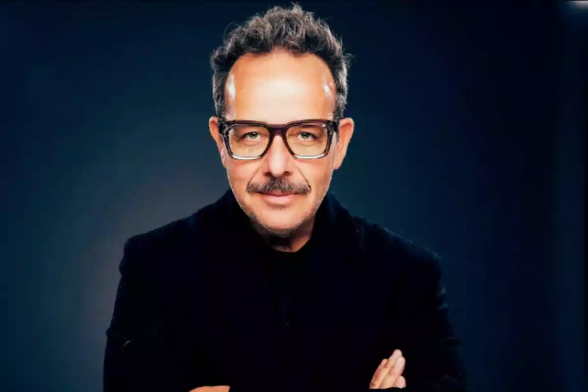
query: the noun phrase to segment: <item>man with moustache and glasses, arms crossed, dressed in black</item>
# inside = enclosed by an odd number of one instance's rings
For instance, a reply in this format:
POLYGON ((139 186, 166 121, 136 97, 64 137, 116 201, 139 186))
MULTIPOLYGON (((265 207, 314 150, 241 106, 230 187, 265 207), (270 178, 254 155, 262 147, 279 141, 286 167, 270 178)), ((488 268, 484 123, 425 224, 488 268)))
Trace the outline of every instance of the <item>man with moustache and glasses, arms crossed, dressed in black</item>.
POLYGON ((125 244, 105 391, 463 391, 439 259, 328 192, 348 56, 295 5, 213 54, 230 190, 125 244))

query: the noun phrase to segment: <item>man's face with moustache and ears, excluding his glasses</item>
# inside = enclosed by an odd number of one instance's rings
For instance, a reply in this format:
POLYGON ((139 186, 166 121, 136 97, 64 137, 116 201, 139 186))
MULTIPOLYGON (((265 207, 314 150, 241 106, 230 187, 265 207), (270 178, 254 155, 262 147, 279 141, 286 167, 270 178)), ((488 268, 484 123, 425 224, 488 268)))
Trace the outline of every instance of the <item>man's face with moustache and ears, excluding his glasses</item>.
MULTIPOLYGON (((293 56, 283 51, 245 55, 228 75, 225 117, 269 124, 330 120, 335 91, 333 76, 318 56, 293 56)), ((333 136, 328 155, 318 159, 295 158, 279 135, 262 158, 233 159, 219 135, 218 118, 211 118, 209 128, 239 205, 270 233, 288 236, 315 215, 333 170, 345 158, 353 120, 340 120, 339 139, 333 136), (276 196, 280 189, 294 189, 295 193, 276 196)))

